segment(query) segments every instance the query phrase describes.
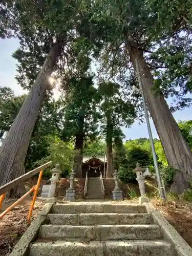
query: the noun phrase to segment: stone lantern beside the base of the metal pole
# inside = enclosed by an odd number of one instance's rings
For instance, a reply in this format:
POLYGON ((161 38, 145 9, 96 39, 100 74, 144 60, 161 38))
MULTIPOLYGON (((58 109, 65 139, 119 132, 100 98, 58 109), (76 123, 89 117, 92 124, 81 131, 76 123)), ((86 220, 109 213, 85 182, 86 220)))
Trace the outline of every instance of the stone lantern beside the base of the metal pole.
POLYGON ((134 173, 136 173, 137 175, 136 180, 139 183, 139 189, 141 194, 141 197, 139 198, 139 202, 140 204, 142 204, 144 202, 148 202, 148 199, 144 197, 145 195, 145 182, 144 182, 145 178, 143 176, 144 168, 140 167, 140 163, 137 163, 136 166, 137 167, 134 169, 134 173))

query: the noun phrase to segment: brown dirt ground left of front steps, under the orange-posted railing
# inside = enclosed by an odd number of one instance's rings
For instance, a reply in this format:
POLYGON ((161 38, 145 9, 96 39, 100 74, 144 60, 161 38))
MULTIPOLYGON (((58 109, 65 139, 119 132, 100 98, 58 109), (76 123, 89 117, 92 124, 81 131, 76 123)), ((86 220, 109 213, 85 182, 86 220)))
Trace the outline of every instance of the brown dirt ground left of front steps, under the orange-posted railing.
MULTIPOLYGON (((14 245, 27 230, 29 223, 27 216, 31 201, 26 201, 23 205, 13 208, 6 216, 0 220, 0 255, 8 256, 14 245)), ((36 218, 38 212, 44 206, 44 202, 35 202, 31 220, 36 218)))

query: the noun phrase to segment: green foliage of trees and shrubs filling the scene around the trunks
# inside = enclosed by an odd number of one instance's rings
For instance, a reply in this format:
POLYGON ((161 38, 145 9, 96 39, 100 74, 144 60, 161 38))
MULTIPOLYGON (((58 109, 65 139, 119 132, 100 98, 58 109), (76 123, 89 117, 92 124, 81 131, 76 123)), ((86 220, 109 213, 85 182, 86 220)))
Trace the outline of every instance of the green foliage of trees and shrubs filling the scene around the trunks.
MULTIPOLYGON (((136 163, 145 167, 153 160, 148 139, 122 143, 121 126, 130 126, 142 116, 140 94, 133 90, 137 82, 128 48, 137 43, 156 77, 154 92, 178 100, 176 106, 171 106, 172 111, 188 106, 191 99, 184 97, 192 88, 190 2, 3 1, 0 14, 0 37, 9 37, 14 31, 19 38, 20 47, 13 57, 18 61, 16 79, 25 89, 31 88, 54 41, 64 38, 66 42, 54 73, 65 99, 55 102, 47 93, 28 148, 27 168, 50 157, 55 159, 54 164, 63 162, 63 148, 66 159, 62 167, 71 169, 71 143, 60 138, 71 141, 80 136, 84 153, 105 153, 104 143, 89 142, 100 130, 107 142, 113 142, 115 166, 122 180, 135 181, 132 170, 136 163), (93 52, 100 62, 98 88, 89 73, 93 52), (103 82, 112 79, 115 82, 103 82), (50 134, 54 139, 47 139, 50 134)), ((0 88, 0 139, 9 131, 24 99, 25 95, 15 97, 10 89, 0 88)), ((192 147, 191 121, 180 122, 179 127, 192 147)), ((164 167, 168 164, 160 141, 155 141, 155 148, 162 175, 169 184, 174 170, 164 167)))

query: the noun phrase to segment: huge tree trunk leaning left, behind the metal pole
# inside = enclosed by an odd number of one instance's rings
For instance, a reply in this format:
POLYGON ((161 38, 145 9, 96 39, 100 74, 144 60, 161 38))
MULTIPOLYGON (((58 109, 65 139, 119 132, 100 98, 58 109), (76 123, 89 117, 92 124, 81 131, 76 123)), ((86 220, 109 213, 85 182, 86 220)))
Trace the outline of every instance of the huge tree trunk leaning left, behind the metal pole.
POLYGON ((133 41, 128 42, 127 48, 135 71, 136 59, 138 60, 144 96, 162 143, 167 162, 169 166, 180 170, 174 178, 171 190, 176 193, 182 193, 188 187, 188 177, 191 177, 192 174, 192 153, 163 95, 155 96, 152 91, 154 78, 144 60, 142 52, 138 50, 136 44, 133 44, 133 41))

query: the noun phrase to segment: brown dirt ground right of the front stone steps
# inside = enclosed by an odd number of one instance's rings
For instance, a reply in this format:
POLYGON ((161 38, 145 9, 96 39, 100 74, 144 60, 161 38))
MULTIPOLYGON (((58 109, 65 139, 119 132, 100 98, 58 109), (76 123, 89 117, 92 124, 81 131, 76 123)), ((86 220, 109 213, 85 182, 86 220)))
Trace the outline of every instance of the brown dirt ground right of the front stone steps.
POLYGON ((163 205, 158 200, 151 200, 161 211, 167 221, 172 224, 180 236, 192 247, 192 203, 169 201, 163 205))

